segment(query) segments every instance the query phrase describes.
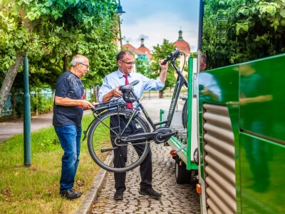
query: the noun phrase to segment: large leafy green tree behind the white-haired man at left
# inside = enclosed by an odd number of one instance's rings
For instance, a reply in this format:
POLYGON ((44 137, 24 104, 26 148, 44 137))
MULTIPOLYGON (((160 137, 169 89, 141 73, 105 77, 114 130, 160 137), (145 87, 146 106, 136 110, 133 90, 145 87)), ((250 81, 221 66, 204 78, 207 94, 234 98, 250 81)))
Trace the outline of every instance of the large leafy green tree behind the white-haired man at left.
POLYGON ((54 87, 75 54, 90 59, 87 86, 113 71, 116 7, 115 0, 0 0, 0 113, 26 54, 34 86, 54 87))

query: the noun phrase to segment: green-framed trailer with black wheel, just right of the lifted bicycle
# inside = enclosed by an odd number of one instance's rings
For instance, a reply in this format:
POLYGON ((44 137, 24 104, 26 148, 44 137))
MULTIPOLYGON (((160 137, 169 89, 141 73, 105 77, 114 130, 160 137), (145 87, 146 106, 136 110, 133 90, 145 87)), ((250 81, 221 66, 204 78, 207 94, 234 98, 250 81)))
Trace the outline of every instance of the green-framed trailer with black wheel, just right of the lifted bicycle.
MULTIPOLYGON (((190 58, 188 61, 188 88, 187 94, 180 93, 180 98, 186 100, 180 103, 178 109, 175 110, 170 128, 175 131, 175 136, 172 136, 166 143, 171 146, 170 154, 175 159, 175 178, 180 184, 192 183, 197 180, 198 174, 198 138, 197 138, 197 90, 193 87, 193 83, 197 83, 197 60, 190 58), (192 77, 195 77, 194 79, 192 77), (191 96, 189 96, 191 94, 191 96), (187 95, 188 98, 185 98, 187 95), (192 97, 192 98, 190 98, 192 97), (190 108, 188 108, 190 106, 190 108), (187 128, 190 127, 190 128, 187 128)), ((167 110, 160 111, 160 121, 165 121, 167 118, 167 110)))

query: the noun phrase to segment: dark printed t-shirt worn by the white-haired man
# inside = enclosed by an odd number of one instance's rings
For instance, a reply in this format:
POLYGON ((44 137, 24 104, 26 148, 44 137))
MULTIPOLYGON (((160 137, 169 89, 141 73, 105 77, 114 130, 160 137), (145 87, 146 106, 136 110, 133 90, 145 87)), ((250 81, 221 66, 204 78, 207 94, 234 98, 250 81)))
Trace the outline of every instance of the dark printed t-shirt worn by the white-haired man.
MULTIPOLYGON (((71 71, 61 74, 56 81, 56 96, 83 100, 84 86, 80 78, 71 71)), ((83 108, 81 106, 58 106, 53 103, 53 126, 76 125, 81 127, 83 108)))

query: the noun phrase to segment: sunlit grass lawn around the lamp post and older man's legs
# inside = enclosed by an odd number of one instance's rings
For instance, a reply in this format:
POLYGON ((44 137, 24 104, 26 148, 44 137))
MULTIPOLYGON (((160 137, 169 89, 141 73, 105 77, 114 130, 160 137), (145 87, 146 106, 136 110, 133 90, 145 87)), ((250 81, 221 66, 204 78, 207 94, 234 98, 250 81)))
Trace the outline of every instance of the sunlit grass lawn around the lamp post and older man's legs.
MULTIPOLYGON (((92 120, 92 114, 83 117, 83 130, 92 120)), ((0 213, 74 213, 99 167, 88 153, 87 140, 83 141, 74 186, 83 196, 69 201, 59 195, 62 156, 53 126, 31 134, 29 168, 24 166, 23 134, 0 143, 0 213)))

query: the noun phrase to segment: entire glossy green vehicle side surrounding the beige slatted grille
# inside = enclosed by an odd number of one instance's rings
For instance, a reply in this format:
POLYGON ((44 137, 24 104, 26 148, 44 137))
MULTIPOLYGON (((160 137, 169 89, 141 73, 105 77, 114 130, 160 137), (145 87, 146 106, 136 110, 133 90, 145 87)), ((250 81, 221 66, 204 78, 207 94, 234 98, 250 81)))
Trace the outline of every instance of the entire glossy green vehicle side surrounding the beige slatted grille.
MULTIPOLYGON (((227 106, 232 121, 237 213, 285 213, 284 62, 285 54, 280 54, 202 72, 212 76, 220 91, 219 99, 199 91, 201 178, 202 104, 217 103, 227 106)), ((198 76, 198 84, 210 86, 209 79, 198 76)))

